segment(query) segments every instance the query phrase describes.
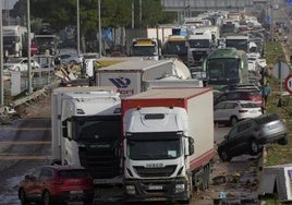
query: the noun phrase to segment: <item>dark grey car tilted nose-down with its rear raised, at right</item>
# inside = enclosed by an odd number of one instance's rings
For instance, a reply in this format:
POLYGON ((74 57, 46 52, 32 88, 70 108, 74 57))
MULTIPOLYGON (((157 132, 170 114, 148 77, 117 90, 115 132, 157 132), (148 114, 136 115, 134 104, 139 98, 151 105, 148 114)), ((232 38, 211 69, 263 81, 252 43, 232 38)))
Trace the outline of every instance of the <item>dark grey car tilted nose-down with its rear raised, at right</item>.
POLYGON ((230 161, 232 157, 243 154, 257 155, 269 143, 288 144, 287 125, 275 113, 236 123, 218 144, 217 152, 222 161, 230 161))

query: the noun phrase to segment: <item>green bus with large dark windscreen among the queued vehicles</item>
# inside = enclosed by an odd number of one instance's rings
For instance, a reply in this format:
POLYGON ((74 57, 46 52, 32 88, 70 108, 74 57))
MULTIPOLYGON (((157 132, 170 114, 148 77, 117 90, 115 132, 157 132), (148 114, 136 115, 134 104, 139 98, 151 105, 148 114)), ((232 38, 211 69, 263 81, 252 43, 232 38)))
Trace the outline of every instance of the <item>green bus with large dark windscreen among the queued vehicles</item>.
POLYGON ((205 83, 215 89, 231 84, 248 83, 246 52, 235 48, 214 50, 203 61, 203 70, 206 72, 205 83))

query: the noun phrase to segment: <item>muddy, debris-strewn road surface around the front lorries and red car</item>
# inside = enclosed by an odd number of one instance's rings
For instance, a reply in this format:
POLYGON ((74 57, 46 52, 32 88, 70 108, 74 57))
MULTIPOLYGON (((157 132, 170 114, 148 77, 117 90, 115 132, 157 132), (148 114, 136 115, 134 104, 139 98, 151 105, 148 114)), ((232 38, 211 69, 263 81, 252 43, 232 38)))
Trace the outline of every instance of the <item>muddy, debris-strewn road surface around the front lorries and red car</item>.
MULTIPOLYGON (((19 109, 21 118, 0 124, 0 204, 20 205, 17 184, 35 167, 50 164, 51 122, 50 97, 19 109)), ((229 131, 228 126, 215 128, 215 146, 229 131)), ((191 205, 258 204, 258 164, 260 156, 243 155, 230 162, 216 156, 211 183, 207 191, 195 191, 191 205)), ((97 189, 95 204, 122 204, 120 188, 97 189)), ((145 203, 143 203, 145 204, 145 203)), ((146 203, 149 204, 149 203, 146 203)), ((163 204, 163 203, 153 203, 163 204)))

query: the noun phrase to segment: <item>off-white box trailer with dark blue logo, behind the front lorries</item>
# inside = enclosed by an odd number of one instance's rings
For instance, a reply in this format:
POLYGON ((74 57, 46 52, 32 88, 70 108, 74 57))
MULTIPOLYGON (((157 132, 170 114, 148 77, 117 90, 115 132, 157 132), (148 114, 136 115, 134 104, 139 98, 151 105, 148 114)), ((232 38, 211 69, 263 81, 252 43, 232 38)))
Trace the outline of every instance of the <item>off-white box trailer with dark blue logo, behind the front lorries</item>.
POLYGON ((96 85, 115 86, 124 98, 146 91, 147 81, 182 75, 191 76, 191 73, 174 60, 130 60, 98 69, 96 85))

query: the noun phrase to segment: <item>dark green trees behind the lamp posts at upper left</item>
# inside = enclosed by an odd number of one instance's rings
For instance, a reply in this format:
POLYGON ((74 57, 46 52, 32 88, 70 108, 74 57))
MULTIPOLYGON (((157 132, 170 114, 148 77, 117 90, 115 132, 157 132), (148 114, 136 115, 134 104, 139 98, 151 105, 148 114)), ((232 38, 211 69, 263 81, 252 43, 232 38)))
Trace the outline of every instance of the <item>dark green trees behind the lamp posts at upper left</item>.
MULTIPOLYGON (((138 1, 100 0, 101 26, 104 28, 130 26, 132 23, 132 3, 137 4, 138 1)), ((26 16, 26 2, 27 0, 19 0, 13 8, 13 16, 26 16)), ((75 26, 76 2, 77 0, 31 0, 31 20, 42 20, 44 23, 49 23, 56 32, 60 32, 69 25, 75 26)), ((143 0, 142 2, 143 23, 141 26, 155 26, 168 20, 162 12, 160 0, 143 0)), ((98 32, 98 0, 80 0, 80 20, 81 43, 84 50, 85 36, 96 36, 98 32)))

